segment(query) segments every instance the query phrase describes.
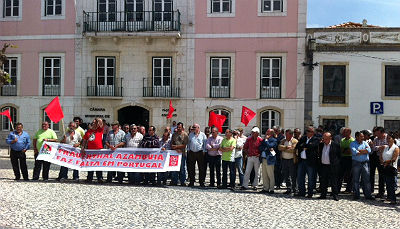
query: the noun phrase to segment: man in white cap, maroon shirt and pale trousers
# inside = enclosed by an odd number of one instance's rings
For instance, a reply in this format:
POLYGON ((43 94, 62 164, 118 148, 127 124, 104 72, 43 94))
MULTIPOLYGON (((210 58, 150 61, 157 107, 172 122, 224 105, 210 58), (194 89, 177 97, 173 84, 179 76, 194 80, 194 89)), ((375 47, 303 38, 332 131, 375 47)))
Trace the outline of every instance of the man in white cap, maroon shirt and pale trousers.
POLYGON ((257 189, 258 171, 260 169, 260 150, 258 149, 263 139, 259 136, 260 129, 254 127, 251 130, 251 136, 244 143, 243 150, 247 153, 246 171, 244 174, 242 189, 248 189, 251 170, 254 168, 255 178, 253 180, 253 189, 257 189))

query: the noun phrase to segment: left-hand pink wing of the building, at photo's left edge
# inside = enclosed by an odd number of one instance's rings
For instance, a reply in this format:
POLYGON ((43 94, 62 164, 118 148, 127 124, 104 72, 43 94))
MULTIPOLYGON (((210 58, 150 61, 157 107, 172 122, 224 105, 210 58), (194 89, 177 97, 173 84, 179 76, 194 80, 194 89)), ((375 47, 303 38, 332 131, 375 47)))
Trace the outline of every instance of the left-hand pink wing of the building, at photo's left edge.
MULTIPOLYGON (((0 45, 11 43, 4 67, 11 83, 1 88, 0 109, 11 109, 14 122, 23 122, 33 134, 43 120, 44 107, 55 96, 61 101, 75 94, 74 1, 1 0, 0 45)), ((69 102, 71 103, 71 102, 69 102)), ((72 113, 68 102, 64 112, 72 113)), ((71 114, 72 115, 72 114, 71 114)), ((0 133, 8 134, 10 123, 1 117, 0 133)), ((59 124, 51 123, 58 130, 59 124)))

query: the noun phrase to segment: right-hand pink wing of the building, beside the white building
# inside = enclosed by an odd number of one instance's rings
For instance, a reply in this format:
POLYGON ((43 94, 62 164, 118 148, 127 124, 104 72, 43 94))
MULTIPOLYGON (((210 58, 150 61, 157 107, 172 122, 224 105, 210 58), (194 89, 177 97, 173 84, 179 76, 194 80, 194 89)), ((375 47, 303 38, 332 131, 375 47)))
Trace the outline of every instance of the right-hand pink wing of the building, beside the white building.
POLYGON ((249 126, 263 133, 303 127, 307 1, 195 4, 194 97, 205 118, 216 111, 227 116, 225 127, 237 128, 244 105, 257 112, 249 126))

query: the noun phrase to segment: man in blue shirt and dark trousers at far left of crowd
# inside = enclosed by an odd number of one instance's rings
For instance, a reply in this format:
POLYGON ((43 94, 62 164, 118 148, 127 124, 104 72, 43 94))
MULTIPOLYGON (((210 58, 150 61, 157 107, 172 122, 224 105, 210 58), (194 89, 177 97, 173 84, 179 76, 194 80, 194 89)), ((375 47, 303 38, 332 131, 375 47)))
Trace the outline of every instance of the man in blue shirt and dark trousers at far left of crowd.
POLYGON ((29 180, 25 152, 31 145, 31 138, 27 132, 23 131, 23 128, 24 126, 22 123, 16 123, 15 130, 8 135, 6 140, 7 144, 11 147, 10 159, 14 170, 15 180, 19 180, 21 178, 21 173, 19 171, 20 166, 22 177, 24 180, 29 180))

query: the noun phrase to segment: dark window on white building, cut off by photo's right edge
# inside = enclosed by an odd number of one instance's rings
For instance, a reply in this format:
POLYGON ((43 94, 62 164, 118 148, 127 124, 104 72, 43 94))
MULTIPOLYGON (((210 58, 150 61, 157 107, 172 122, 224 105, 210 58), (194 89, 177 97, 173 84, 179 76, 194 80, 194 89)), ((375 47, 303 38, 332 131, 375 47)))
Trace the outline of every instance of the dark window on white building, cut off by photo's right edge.
POLYGON ((385 66, 385 96, 400 96, 400 66, 385 66))

